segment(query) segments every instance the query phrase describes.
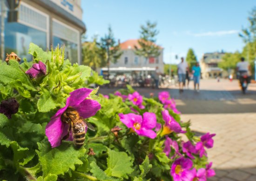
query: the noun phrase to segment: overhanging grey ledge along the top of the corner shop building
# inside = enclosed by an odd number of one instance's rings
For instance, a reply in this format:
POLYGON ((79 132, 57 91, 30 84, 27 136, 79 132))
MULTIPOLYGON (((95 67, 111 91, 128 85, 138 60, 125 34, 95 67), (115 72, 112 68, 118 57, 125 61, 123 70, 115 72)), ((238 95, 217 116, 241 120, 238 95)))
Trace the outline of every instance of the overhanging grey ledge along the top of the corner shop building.
POLYGON ((58 6, 51 0, 33 0, 33 1, 45 7, 47 10, 53 11, 55 14, 59 15, 61 18, 80 27, 83 30, 83 32, 86 32, 86 26, 82 20, 76 18, 73 14, 65 11, 64 9, 62 9, 60 6, 58 6))

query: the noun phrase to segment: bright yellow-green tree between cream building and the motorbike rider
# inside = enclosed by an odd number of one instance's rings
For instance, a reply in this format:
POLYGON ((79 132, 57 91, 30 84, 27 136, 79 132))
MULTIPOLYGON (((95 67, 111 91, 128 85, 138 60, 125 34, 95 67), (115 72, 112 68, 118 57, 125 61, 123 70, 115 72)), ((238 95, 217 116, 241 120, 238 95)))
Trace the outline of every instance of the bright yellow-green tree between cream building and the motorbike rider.
POLYGON ((242 57, 241 53, 236 51, 235 53, 225 53, 222 57, 222 62, 218 66, 226 71, 236 70, 236 64, 240 61, 242 57))

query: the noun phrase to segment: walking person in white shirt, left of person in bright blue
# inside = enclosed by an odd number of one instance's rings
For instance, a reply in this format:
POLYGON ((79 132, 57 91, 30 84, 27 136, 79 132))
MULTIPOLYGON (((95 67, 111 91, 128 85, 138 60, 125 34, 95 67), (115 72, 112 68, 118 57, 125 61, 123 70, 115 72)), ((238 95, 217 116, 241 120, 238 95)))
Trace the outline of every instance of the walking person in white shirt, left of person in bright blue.
POLYGON ((189 65, 184 58, 181 58, 182 62, 178 64, 178 77, 179 77, 179 91, 183 92, 183 85, 185 85, 186 81, 186 71, 189 73, 189 65))

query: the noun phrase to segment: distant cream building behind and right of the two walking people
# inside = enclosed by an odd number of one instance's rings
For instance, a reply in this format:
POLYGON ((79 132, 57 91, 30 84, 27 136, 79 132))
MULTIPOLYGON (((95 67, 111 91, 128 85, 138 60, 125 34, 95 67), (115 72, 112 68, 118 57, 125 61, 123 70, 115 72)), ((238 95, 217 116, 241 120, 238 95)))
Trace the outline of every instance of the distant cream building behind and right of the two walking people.
POLYGON ((222 61, 222 57, 225 53, 222 52, 213 52, 213 53, 204 53, 200 61, 202 78, 216 78, 222 77, 223 70, 218 67, 218 63, 222 61))

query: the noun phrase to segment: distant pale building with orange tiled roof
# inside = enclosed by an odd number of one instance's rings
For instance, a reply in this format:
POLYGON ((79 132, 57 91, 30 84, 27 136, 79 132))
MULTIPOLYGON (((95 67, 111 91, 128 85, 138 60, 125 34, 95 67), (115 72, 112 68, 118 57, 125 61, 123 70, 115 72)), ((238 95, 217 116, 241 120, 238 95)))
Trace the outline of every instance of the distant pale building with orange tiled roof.
MULTIPOLYGON (((145 58, 135 54, 135 46, 140 48, 138 39, 129 39, 120 43, 123 54, 117 60, 117 63, 110 63, 110 73, 136 73, 148 75, 151 71, 155 71, 158 67, 159 71, 163 73, 163 48, 160 48, 160 55, 158 57, 145 58)), ((107 68, 105 68, 107 70, 107 68)), ((105 70, 103 68, 103 71, 105 70)))

